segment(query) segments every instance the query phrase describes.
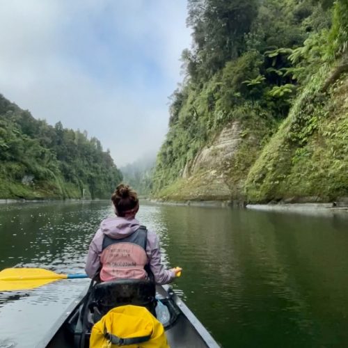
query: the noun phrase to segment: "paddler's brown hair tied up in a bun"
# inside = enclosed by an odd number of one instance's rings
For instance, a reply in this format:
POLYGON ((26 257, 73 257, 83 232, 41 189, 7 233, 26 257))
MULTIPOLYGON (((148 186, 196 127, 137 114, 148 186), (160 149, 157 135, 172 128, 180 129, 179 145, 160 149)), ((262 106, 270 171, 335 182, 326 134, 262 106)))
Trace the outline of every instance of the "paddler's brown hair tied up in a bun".
POLYGON ((138 212, 138 194, 129 185, 119 184, 111 196, 111 200, 116 208, 117 216, 134 217, 138 212))

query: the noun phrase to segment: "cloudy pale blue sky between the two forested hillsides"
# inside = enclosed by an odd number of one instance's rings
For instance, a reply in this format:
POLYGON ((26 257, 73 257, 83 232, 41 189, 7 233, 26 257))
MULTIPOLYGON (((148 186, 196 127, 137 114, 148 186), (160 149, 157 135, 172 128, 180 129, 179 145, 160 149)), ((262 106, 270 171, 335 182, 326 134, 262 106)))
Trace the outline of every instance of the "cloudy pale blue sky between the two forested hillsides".
POLYGON ((159 150, 190 47, 187 0, 0 0, 0 93, 86 130, 118 167, 159 150))

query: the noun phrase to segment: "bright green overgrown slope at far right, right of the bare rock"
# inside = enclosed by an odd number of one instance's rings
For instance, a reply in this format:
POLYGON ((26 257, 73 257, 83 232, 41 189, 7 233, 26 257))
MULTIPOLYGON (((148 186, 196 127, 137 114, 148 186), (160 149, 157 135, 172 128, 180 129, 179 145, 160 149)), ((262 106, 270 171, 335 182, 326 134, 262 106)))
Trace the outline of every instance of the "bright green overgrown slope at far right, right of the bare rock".
POLYGON ((348 196, 348 3, 336 1, 330 31, 292 54, 308 83, 246 180, 249 200, 336 200, 348 196), (316 70, 316 71, 315 71, 316 70))

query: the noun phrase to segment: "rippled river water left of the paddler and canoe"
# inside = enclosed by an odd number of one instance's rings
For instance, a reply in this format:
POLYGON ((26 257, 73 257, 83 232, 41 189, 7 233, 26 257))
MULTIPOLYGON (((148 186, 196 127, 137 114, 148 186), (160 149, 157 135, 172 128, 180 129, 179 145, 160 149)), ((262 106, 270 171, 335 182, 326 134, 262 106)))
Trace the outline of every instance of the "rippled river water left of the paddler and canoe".
MULTIPOLYGON (((88 216, 81 205, 33 204, 21 208, 19 215, 18 206, 8 206, 5 212, 0 207, 5 234, 2 237, 10 243, 10 248, 6 243, 0 246, 3 268, 39 267, 63 274, 81 273, 90 239, 100 221, 109 214, 109 207, 96 205, 96 209, 88 211, 88 216), (15 216, 11 216, 13 213, 15 216), (8 225, 15 225, 17 216, 18 226, 23 226, 20 236, 8 225), (17 253, 12 252, 17 249, 17 253)), ((42 333, 49 331, 62 314, 62 308, 76 299, 88 283, 88 279, 58 280, 34 290, 1 292, 0 346, 34 347, 42 339, 42 333)))

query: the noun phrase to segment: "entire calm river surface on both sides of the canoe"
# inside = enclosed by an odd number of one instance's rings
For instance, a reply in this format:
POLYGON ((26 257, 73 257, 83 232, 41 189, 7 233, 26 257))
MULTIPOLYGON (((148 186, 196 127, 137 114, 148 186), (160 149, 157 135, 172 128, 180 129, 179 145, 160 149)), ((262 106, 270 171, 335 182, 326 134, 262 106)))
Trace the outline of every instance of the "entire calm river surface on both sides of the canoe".
MULTIPOLYGON (((0 205, 0 269, 84 269, 108 202, 0 205)), ((223 347, 348 347, 348 214, 143 203, 175 291, 223 347)), ((0 347, 35 347, 87 280, 0 292, 0 347)))

